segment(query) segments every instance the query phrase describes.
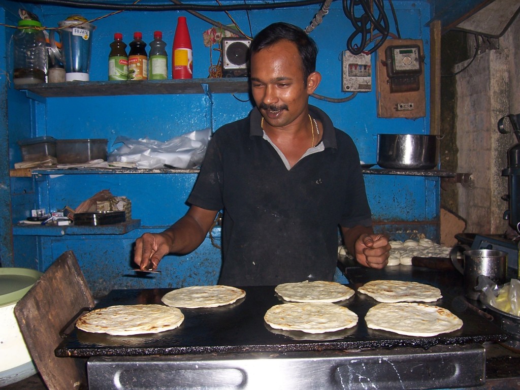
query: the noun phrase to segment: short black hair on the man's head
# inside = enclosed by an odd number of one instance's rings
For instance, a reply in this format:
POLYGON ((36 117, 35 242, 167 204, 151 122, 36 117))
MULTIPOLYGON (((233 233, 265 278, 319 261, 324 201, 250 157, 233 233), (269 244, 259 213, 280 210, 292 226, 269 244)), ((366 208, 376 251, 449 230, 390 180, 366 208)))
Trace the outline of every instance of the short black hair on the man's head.
POLYGON ((249 48, 249 54, 251 56, 253 53, 258 53, 258 51, 282 40, 293 42, 298 48, 298 53, 302 58, 304 81, 307 80, 309 74, 316 71, 318 46, 305 31, 293 24, 277 22, 268 25, 254 37, 249 48))

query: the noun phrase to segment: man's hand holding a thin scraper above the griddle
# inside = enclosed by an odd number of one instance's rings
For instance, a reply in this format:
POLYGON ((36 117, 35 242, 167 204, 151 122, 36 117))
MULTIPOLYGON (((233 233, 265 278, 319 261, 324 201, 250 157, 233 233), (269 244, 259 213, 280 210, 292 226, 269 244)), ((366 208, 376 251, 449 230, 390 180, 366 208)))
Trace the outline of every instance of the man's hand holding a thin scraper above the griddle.
POLYGON ((134 263, 144 271, 155 270, 172 244, 172 238, 164 232, 145 233, 135 241, 134 263))

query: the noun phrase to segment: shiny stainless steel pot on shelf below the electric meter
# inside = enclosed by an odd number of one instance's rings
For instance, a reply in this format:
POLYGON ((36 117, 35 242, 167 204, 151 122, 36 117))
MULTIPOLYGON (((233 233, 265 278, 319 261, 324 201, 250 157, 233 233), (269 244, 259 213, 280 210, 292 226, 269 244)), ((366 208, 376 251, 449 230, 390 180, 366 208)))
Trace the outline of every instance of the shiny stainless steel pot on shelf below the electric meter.
POLYGON ((437 136, 378 134, 378 165, 393 169, 432 169, 437 165, 437 136))

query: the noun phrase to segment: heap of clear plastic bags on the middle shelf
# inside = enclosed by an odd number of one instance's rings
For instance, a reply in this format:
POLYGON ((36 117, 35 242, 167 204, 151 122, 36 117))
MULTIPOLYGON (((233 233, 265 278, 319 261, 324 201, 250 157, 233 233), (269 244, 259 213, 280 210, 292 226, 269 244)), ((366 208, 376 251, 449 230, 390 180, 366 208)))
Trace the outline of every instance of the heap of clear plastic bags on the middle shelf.
POLYGON ((137 168, 162 168, 170 165, 192 169, 202 164, 210 138, 210 128, 186 133, 165 142, 148 137, 132 139, 119 136, 114 145, 121 142, 123 145, 108 155, 108 161, 135 163, 137 168))

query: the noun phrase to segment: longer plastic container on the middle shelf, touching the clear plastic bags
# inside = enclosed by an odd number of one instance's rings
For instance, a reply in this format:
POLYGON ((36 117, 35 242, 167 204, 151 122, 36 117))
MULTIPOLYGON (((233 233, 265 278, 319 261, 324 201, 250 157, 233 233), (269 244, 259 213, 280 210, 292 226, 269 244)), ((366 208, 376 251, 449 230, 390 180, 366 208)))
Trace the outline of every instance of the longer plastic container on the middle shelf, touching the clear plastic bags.
POLYGON ((91 160, 107 161, 108 139, 58 139, 56 159, 58 164, 81 164, 91 160))

